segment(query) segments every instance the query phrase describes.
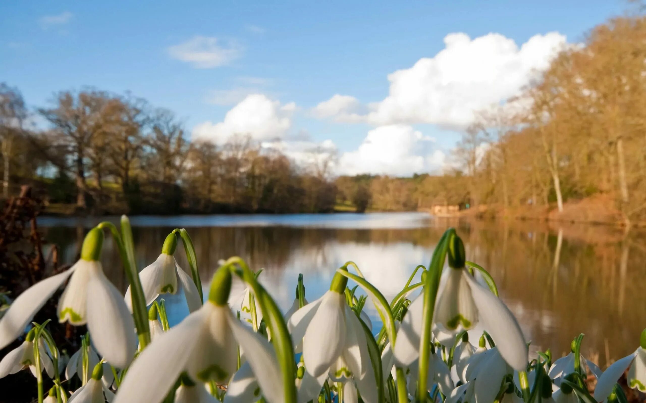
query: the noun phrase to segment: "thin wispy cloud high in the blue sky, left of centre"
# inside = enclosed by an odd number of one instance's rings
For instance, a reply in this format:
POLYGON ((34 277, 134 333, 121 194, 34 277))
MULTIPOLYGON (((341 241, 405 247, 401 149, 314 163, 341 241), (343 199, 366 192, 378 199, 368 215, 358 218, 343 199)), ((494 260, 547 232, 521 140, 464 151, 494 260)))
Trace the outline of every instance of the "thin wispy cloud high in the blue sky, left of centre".
POLYGON ((244 49, 235 41, 224 45, 215 37, 196 35, 186 42, 168 47, 173 59, 190 63, 194 68, 225 66, 242 55, 244 49))

